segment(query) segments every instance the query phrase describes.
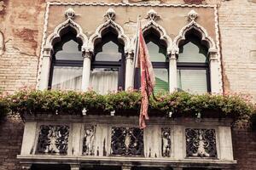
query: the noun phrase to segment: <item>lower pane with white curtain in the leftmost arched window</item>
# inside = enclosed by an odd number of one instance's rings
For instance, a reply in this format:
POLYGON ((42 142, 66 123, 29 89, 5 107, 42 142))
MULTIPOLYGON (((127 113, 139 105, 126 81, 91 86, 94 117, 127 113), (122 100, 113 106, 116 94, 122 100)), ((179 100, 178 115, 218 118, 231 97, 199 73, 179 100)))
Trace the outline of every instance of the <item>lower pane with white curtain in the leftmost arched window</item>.
POLYGON ((52 89, 80 90, 82 67, 54 66, 52 89))

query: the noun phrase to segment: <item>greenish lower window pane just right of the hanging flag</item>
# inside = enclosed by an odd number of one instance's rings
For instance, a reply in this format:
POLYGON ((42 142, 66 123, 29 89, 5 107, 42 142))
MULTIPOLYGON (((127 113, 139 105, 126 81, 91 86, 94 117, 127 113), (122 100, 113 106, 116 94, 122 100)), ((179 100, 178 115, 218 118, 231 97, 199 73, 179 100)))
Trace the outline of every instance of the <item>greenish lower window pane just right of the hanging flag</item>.
POLYGON ((154 92, 169 91, 168 70, 167 69, 154 69, 155 86, 154 92))

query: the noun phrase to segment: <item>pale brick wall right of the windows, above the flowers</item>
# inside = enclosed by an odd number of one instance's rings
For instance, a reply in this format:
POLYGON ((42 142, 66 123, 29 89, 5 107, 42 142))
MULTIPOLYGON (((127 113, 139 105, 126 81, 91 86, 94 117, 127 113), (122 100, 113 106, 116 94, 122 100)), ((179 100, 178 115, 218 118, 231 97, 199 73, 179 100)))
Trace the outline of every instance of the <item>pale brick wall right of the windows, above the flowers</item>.
POLYGON ((256 3, 224 1, 218 16, 224 90, 256 99, 256 3))

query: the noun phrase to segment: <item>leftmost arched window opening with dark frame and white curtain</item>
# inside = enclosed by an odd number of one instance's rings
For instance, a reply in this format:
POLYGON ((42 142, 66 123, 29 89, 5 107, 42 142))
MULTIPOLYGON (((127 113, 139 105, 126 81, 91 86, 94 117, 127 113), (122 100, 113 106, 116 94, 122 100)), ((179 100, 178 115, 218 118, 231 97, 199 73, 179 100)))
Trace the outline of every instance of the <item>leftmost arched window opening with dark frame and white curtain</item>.
POLYGON ((80 90, 82 83, 83 56, 80 42, 73 30, 62 33, 61 41, 54 45, 49 88, 80 90))

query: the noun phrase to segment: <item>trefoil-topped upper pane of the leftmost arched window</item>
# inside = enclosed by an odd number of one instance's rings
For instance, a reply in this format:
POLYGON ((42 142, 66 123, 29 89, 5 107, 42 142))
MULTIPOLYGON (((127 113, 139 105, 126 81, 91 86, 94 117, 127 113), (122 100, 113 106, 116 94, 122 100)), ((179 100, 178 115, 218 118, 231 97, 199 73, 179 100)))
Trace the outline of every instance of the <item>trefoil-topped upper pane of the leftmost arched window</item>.
POLYGON ((82 52, 79 51, 79 43, 74 40, 65 42, 62 50, 55 54, 55 59, 83 60, 82 52))

